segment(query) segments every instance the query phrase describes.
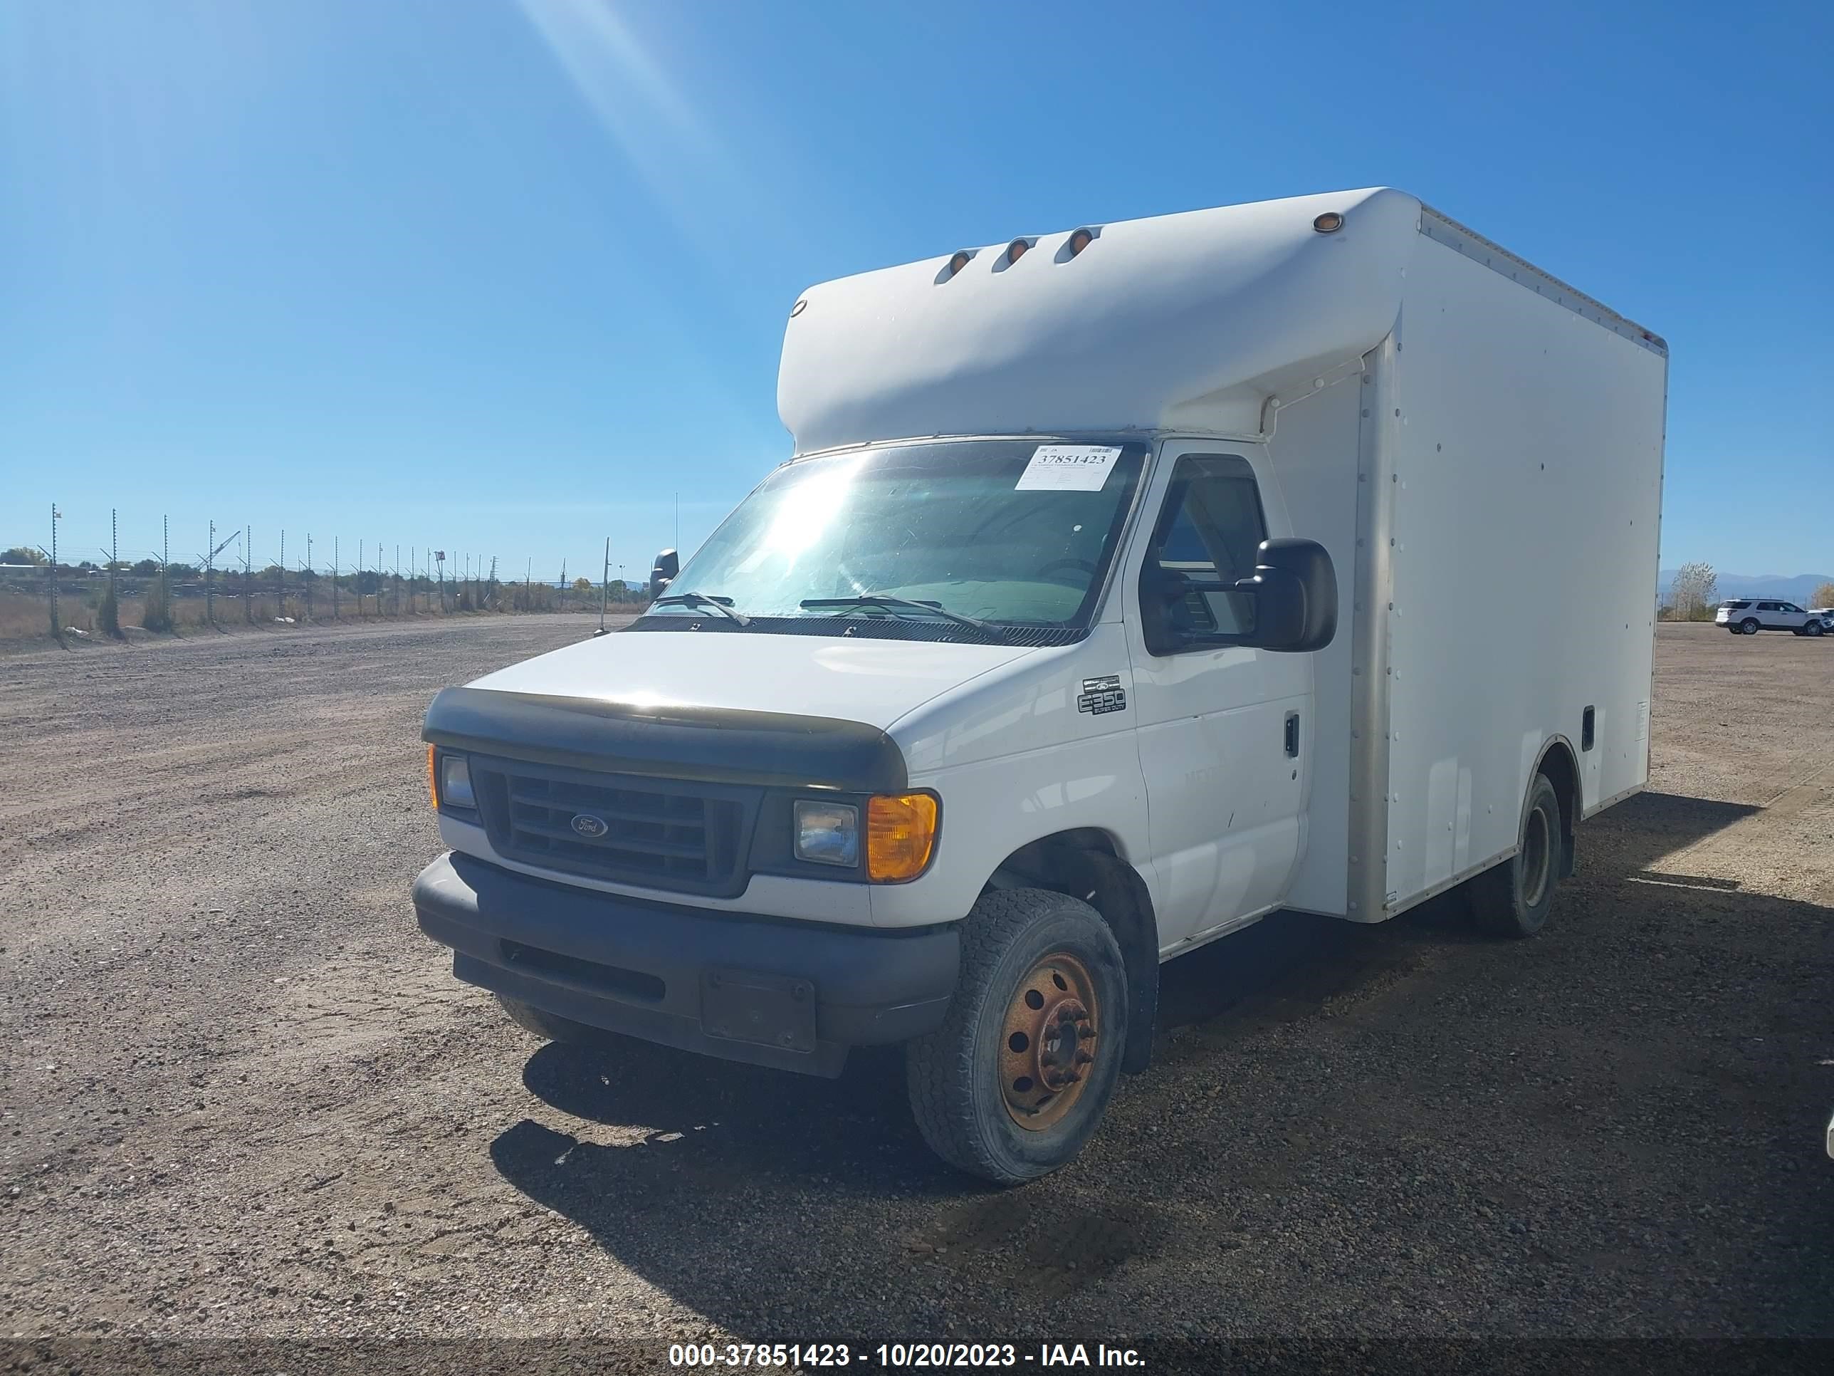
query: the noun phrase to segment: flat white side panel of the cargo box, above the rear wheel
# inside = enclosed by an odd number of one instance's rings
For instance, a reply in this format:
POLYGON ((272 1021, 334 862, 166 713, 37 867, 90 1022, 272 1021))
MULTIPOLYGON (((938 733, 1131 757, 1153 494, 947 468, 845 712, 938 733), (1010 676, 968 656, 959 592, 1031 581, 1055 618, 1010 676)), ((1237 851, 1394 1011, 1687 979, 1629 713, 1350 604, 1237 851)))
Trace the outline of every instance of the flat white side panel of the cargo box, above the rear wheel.
POLYGON ((1662 508, 1667 360, 1418 242, 1377 416, 1387 912, 1513 853, 1550 743, 1581 813, 1643 785, 1662 508))

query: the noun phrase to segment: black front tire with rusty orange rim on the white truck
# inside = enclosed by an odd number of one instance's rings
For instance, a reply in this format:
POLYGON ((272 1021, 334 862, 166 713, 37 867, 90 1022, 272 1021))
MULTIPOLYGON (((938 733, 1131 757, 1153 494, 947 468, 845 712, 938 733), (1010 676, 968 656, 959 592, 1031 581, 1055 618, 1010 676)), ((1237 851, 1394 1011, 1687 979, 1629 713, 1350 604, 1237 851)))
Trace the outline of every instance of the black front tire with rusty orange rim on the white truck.
MULTIPOLYGON (((1067 985, 1051 976, 1056 989, 1067 985)), ((1049 987, 1049 985, 1044 985, 1049 987)), ((1064 994, 1053 994, 1073 1007, 1064 994)), ((1038 1005, 1033 1005, 1038 1007, 1038 1005)), ((1045 1007, 1045 1013, 1056 1007, 1045 1007)), ((1066 1011, 1067 1011, 1066 1007, 1066 1011)), ((1095 1134, 1115 1092, 1126 1053, 1128 980, 1115 934, 1088 903, 1042 888, 983 893, 961 932, 961 982, 943 1026, 910 1042, 904 1077, 917 1130, 930 1149, 961 1171, 996 1185, 1018 1185, 1056 1171, 1077 1156, 1095 1134), (1067 956, 1093 983, 1095 1009, 1086 1024, 1093 1060, 1078 1064, 1080 1081, 1066 1088, 1056 1106, 1031 1110, 1047 1126, 1022 1126, 1009 1106, 1009 1088, 1029 1077, 1007 1079, 1007 1051, 1023 1051, 1009 1040, 1007 1018, 1029 1000, 1040 969, 1055 956, 1067 956), (1067 1106, 1066 1106, 1067 1104, 1067 1106)), ((1080 1031, 1075 1024, 1069 1031, 1080 1031)), ((1038 1064, 1056 1055, 1066 1033, 1056 1024, 1045 1049, 1031 1048, 1038 1064)), ((1014 1035, 1014 1040, 1023 1040, 1014 1035)), ((1044 1037, 1040 1037, 1044 1042, 1044 1037)), ((1067 1042, 1080 1062, 1084 1042, 1067 1042)), ((1047 1068, 1051 1070, 1051 1068, 1047 1068)), ((1058 1070, 1058 1073, 1062 1073, 1058 1070)), ((1040 1106, 1053 1095, 1044 1095, 1040 1106)))

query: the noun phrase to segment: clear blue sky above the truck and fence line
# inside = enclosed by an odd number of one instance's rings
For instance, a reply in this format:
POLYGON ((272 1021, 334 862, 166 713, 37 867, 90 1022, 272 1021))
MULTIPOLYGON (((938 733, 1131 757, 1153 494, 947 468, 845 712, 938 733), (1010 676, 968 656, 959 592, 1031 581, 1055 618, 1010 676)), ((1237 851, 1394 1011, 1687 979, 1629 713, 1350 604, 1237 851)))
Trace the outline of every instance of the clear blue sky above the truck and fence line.
POLYGON ((1388 183, 1667 336, 1665 565, 1834 572, 1830 13, 15 0, 0 545, 638 576, 789 453, 809 283, 1388 183))

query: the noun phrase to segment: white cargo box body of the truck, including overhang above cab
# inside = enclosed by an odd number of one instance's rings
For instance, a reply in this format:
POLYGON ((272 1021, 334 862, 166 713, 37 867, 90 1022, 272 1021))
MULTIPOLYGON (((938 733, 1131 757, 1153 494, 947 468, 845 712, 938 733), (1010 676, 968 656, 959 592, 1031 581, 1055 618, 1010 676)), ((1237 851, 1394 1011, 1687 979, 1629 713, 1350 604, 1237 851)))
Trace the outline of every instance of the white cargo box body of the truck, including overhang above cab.
POLYGON ((1399 191, 1089 231, 812 288, 778 393, 798 453, 1137 431, 1256 455, 1269 530, 1322 543, 1341 600, 1287 906, 1379 921, 1513 853, 1552 743, 1581 815, 1641 789, 1663 341, 1399 191))

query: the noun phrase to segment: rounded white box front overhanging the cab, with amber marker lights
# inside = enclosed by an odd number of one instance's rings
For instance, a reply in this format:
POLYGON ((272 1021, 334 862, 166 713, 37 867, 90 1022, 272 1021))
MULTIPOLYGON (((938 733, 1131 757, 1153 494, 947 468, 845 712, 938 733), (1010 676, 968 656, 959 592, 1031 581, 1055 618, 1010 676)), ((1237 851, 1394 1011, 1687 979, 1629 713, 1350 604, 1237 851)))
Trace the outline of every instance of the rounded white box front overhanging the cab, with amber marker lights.
POLYGON ((1077 255, 1066 229, 1025 235, 1016 262, 996 244, 956 273, 941 255, 822 283, 785 330, 778 415, 798 453, 923 435, 1258 433, 1269 396, 1309 391, 1394 328, 1421 222, 1407 193, 1337 191, 1086 226, 1077 255), (1331 211, 1342 227, 1319 233, 1331 211))

